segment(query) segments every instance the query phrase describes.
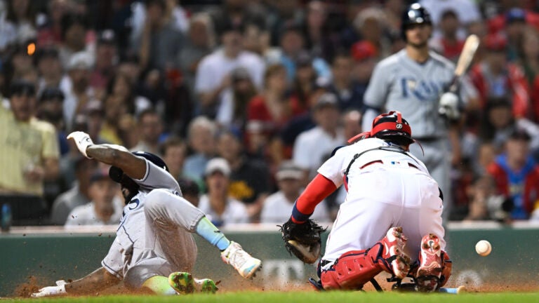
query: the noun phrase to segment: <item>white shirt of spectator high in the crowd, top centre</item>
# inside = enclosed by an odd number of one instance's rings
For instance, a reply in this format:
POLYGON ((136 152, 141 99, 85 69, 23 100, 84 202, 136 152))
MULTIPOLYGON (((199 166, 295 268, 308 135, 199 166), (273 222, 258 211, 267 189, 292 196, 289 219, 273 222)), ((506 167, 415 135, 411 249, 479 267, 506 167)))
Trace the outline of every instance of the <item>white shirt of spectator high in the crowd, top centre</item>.
MULTIPOLYGON (((247 69, 255 86, 262 88, 265 71, 265 62, 259 55, 248 51, 242 51, 236 58, 228 58, 222 49, 215 50, 210 55, 202 58, 197 68, 194 90, 204 93, 214 90, 222 83, 222 79, 230 74, 233 69, 244 67, 247 69)), ((220 96, 222 97, 222 95, 220 96)))

